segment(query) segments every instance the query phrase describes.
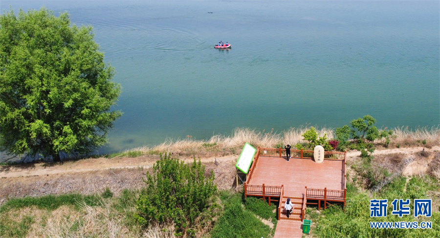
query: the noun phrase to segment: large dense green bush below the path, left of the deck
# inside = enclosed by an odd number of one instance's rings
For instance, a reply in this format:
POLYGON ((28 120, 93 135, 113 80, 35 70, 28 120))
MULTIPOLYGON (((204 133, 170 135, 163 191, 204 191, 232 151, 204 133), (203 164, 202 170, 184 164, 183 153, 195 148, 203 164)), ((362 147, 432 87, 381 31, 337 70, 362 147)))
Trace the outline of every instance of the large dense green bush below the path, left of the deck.
POLYGON ((137 199, 137 221, 141 225, 173 221, 177 236, 193 228, 217 190, 214 172, 207 178, 204 173, 205 166, 196 158, 192 164, 185 164, 171 158, 171 154, 161 155, 153 165, 153 173, 147 172, 144 179, 146 193, 137 199))

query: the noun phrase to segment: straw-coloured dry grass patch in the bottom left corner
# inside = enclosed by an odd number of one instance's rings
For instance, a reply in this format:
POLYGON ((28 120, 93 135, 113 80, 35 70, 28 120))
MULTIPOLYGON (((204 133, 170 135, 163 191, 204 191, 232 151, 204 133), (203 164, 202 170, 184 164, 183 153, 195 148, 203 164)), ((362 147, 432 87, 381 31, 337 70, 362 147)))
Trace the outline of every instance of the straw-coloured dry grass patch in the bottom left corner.
POLYGON ((33 224, 26 237, 32 238, 175 238, 173 224, 154 225, 142 233, 139 227, 129 229, 124 222, 123 214, 108 200, 101 202, 100 206, 88 206, 83 203, 80 210, 66 205, 54 211, 27 207, 8 211, 2 216, 2 219, 7 218, 15 222, 31 217, 33 224))

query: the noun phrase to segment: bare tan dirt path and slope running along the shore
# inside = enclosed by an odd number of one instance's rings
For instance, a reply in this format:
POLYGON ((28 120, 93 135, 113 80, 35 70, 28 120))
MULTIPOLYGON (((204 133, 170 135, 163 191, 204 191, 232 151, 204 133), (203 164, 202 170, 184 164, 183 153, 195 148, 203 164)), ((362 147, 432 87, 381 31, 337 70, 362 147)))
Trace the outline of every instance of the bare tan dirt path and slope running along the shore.
MULTIPOLYGON (((401 153, 405 156, 421 152, 423 147, 376 150, 374 155, 401 153)), ((427 152, 440 151, 439 146, 427 152)), ((347 159, 360 156, 358 151, 347 152, 347 159)), ((221 189, 233 187, 235 181, 235 162, 238 155, 219 158, 200 158, 209 170, 214 170, 216 182, 221 189), (217 160, 217 164, 214 161, 217 160)), ((43 196, 49 194, 100 193, 106 187, 118 194, 125 188, 141 188, 142 177, 151 169, 158 156, 136 158, 98 158, 67 161, 62 163, 34 163, 24 165, 0 166, 0 205, 7 198, 43 196)), ((185 162, 192 158, 179 158, 185 162)), ((429 161, 427 161, 429 162, 429 161)), ((405 174, 412 174, 426 167, 426 162, 409 164, 405 174), (412 168, 414 166, 414 169, 412 168), (417 168, 416 168, 417 167, 417 168), (420 167, 420 168, 419 168, 420 167)))

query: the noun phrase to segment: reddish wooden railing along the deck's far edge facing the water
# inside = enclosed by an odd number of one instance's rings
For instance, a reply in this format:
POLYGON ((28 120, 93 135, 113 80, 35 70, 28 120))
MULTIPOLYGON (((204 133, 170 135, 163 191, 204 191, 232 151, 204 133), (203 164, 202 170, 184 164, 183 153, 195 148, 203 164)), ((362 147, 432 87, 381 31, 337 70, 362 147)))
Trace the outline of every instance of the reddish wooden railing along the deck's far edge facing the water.
MULTIPOLYGON (((260 156, 264 157, 283 157, 286 156, 286 149, 259 148, 260 156)), ((324 160, 344 160, 347 152, 324 151, 324 160)), ((313 159, 312 150, 290 150, 290 156, 298 159, 313 159)))

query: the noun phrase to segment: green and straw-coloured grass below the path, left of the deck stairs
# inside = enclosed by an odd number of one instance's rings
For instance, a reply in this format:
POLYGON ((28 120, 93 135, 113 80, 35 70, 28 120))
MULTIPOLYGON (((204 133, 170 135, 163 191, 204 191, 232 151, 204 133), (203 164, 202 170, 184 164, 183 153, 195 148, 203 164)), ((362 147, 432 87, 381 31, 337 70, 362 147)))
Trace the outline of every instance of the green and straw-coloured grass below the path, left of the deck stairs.
MULTIPOLYGON (((11 199, 0 207, 0 237, 175 238, 173 224, 142 229, 135 222, 136 199, 145 191, 126 189, 118 197, 108 192, 11 199)), ((229 190, 214 197, 222 209, 213 220, 205 221, 212 226, 197 237, 267 238, 275 232, 274 204, 256 198, 243 201, 242 193, 229 190)))

